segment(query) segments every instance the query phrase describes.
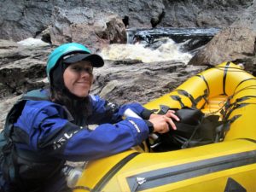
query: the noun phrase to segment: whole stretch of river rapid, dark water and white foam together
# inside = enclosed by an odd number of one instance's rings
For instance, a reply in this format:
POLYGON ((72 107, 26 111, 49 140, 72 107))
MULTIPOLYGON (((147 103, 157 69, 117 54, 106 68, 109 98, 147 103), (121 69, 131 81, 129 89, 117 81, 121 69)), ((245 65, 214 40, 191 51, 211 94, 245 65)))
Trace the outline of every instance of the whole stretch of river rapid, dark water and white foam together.
POLYGON ((218 28, 131 28, 126 30, 127 44, 110 44, 102 49, 101 55, 107 60, 186 64, 218 31, 218 28))

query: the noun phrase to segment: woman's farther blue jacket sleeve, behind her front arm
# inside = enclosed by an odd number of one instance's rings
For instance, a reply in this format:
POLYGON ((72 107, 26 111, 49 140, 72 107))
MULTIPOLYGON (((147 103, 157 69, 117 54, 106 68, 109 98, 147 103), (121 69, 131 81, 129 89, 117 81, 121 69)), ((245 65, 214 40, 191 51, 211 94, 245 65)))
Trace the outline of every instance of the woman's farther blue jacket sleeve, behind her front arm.
POLYGON ((119 106, 113 102, 108 102, 100 96, 90 96, 93 113, 89 117, 89 124, 116 123, 124 116, 125 110, 130 108, 142 119, 149 119, 152 111, 143 108, 139 103, 130 103, 119 106))

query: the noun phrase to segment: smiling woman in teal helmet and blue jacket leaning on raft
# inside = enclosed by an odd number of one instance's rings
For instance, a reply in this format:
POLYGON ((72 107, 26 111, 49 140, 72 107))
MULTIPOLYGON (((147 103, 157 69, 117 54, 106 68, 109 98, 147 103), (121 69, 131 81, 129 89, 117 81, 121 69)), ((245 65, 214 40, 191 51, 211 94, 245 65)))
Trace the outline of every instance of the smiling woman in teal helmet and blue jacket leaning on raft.
POLYGON ((165 133, 169 125, 176 129, 172 111, 158 115, 138 103, 119 107, 90 95, 93 67, 103 64, 82 44, 63 44, 49 55, 49 90, 26 95, 20 113, 6 122, 12 147, 4 162, 13 169, 1 167, 3 191, 70 191, 61 172, 66 160, 96 160, 142 143, 149 133, 165 133), (122 119, 128 108, 142 119, 122 119), (90 124, 98 126, 90 130, 90 124))

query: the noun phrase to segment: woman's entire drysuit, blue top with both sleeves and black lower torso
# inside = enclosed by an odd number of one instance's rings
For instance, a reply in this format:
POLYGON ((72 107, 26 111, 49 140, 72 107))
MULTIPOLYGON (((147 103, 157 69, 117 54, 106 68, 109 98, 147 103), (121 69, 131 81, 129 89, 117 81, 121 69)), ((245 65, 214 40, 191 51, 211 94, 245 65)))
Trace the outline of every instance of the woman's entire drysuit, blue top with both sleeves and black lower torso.
MULTIPOLYGON (((41 92, 45 93, 45 90, 41 92)), ((90 115, 82 120, 81 125, 76 125, 71 113, 60 104, 46 100, 26 101, 14 124, 13 138, 19 156, 15 165, 20 174, 18 180, 22 180, 20 186, 25 186, 20 191, 37 189, 44 182, 57 182, 66 160, 95 160, 117 154, 148 137, 147 121, 131 117, 122 119, 127 108, 143 116, 146 109, 140 104, 119 107, 99 96, 90 96, 90 106, 90 115), (88 125, 98 126, 90 130, 88 125), (27 156, 30 158, 26 160, 27 156), (45 180, 45 177, 50 180, 45 180), (39 185, 30 186, 38 182, 39 185)))

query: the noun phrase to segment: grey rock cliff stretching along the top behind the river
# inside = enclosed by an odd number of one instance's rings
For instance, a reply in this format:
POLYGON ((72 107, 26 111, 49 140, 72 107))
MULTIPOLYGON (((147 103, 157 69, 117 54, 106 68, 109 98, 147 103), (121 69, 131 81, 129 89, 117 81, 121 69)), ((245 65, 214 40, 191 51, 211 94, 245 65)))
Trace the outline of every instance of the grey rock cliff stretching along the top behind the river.
MULTIPOLYGON (((195 26, 195 27, 225 27, 241 15, 243 9, 252 4, 253 0, 213 0, 213 1, 167 1, 167 0, 95 0, 95 1, 26 1, 3 0, 0 7, 0 36, 3 39, 19 41, 24 38, 36 37, 44 29, 58 24, 55 30, 64 32, 70 40, 70 28, 67 25, 90 25, 98 22, 95 17, 98 13, 116 15, 120 20, 129 17, 129 27, 151 27, 150 20, 155 20, 158 26, 195 26), (67 17, 61 17, 57 10, 73 10, 80 12, 78 16, 69 12, 67 17), (92 11, 93 10, 93 11, 92 11), (94 15, 94 13, 97 13, 94 15), (84 15, 84 16, 83 16, 84 15), (56 16, 58 18, 56 18, 56 16), (93 20, 84 20, 93 18, 93 20), (65 33, 65 32, 64 32, 65 33)), ((101 15, 101 14, 100 14, 101 15)), ((74 26, 73 26, 74 27, 74 26)), ((73 28, 71 27, 71 29, 73 28)), ((82 27, 82 26, 80 26, 82 27)), ((63 34, 65 35, 65 34, 63 34)), ((73 38, 73 36, 71 37, 73 38)))

